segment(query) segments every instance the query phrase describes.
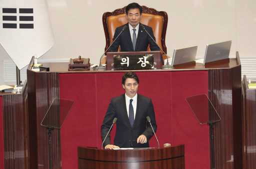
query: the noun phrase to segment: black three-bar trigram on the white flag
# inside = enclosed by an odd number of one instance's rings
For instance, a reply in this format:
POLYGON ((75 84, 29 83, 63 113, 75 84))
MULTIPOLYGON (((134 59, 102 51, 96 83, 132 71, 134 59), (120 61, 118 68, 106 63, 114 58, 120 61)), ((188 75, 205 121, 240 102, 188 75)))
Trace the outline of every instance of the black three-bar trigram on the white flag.
MULTIPOLYGON (((17 21, 17 14, 13 13, 17 13, 17 8, 2 8, 2 28, 17 28, 17 23, 15 23, 17 21), (9 21, 14 21, 14 23, 9 21)), ((18 8, 18 13, 19 21, 29 21, 29 23, 18 23, 19 28, 34 28, 34 24, 31 23, 34 20, 33 8, 18 8), (23 13, 26 13, 26 15, 22 16, 23 13)))

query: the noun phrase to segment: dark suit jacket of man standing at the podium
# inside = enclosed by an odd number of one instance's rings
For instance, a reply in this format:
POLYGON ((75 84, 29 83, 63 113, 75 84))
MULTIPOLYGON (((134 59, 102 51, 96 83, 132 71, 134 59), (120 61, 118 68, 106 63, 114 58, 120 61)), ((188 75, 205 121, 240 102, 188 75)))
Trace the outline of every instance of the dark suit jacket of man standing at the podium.
MULTIPOLYGON (((116 132, 114 144, 119 147, 148 147, 148 140, 153 135, 150 124, 146 121, 146 116, 151 119, 152 126, 156 131, 156 122, 154 116, 153 104, 150 98, 142 95, 137 95, 137 107, 133 126, 131 127, 126 110, 125 95, 111 99, 103 123, 101 125, 101 138, 104 139, 109 130, 113 118, 117 117, 116 132), (137 137, 144 134, 147 142, 137 143, 137 137)), ((103 146, 110 144, 110 134, 108 134, 103 146)))

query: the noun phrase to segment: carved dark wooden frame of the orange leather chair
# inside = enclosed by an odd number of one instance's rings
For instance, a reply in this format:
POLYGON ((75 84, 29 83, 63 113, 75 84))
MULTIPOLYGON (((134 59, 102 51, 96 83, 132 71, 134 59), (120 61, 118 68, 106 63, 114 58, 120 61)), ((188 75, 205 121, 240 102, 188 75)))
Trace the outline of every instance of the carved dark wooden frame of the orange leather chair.
MULTIPOLYGON (((167 30, 167 23, 168 23, 168 15, 165 11, 157 11, 154 8, 149 8, 147 6, 141 6, 142 7, 142 13, 150 13, 154 15, 160 15, 163 17, 163 27, 162 27, 162 34, 161 34, 161 44, 162 44, 162 49, 165 53, 167 53, 167 47, 165 45, 165 35, 166 35, 166 30, 167 30)), ((118 15, 118 14, 124 14, 125 13, 125 8, 126 6, 122 8, 115 9, 112 12, 104 12, 102 15, 102 23, 103 23, 103 28, 104 28, 104 33, 105 33, 105 39, 106 39, 106 45, 105 49, 109 46, 110 42, 110 37, 108 34, 108 28, 107 28, 107 17, 112 16, 112 15, 118 15)))

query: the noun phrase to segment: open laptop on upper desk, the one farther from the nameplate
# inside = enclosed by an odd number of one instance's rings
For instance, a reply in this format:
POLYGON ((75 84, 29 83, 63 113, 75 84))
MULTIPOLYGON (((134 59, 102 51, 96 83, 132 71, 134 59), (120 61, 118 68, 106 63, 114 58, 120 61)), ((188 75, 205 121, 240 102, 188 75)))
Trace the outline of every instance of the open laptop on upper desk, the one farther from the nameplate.
POLYGON ((226 59, 229 56, 231 40, 220 43, 207 44, 203 63, 226 59))

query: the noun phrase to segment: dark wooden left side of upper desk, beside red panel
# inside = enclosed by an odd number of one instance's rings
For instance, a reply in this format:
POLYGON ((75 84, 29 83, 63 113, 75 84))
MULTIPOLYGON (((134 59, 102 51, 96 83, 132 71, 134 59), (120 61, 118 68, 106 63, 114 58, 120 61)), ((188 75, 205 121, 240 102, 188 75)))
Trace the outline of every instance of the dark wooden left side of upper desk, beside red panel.
MULTIPOLYGON (((41 120, 49 105, 59 98, 58 73, 34 72, 27 70, 28 85, 28 112, 29 112, 29 159, 30 168, 48 168, 48 135, 47 129, 40 126, 41 120), (38 164, 42 166, 38 166, 38 164)), ((60 133, 52 131, 52 165, 61 167, 60 160, 60 133)))

